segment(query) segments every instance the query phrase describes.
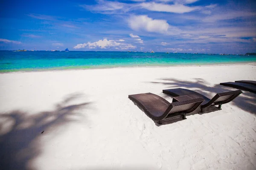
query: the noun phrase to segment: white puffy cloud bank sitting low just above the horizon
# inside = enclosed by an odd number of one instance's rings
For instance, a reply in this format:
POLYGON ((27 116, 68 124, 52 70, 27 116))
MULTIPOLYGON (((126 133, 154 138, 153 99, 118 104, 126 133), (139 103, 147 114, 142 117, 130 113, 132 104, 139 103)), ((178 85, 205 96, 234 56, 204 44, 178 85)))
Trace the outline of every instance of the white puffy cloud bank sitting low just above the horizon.
POLYGON ((79 49, 79 48, 84 48, 84 47, 89 47, 90 49, 93 49, 93 48, 110 48, 110 47, 113 47, 113 46, 118 46, 120 45, 119 42, 116 42, 114 40, 107 40, 107 39, 104 39, 104 40, 99 40, 99 41, 96 41, 96 42, 87 42, 87 43, 83 43, 83 44, 78 44, 76 45, 75 49, 79 49))

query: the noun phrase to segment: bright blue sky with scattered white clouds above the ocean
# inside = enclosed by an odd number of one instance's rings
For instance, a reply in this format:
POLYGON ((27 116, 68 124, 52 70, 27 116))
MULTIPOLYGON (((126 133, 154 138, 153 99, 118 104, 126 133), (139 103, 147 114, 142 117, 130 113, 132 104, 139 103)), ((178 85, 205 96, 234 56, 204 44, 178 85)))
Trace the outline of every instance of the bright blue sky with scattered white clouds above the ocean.
POLYGON ((254 0, 3 0, 0 50, 256 52, 254 0))

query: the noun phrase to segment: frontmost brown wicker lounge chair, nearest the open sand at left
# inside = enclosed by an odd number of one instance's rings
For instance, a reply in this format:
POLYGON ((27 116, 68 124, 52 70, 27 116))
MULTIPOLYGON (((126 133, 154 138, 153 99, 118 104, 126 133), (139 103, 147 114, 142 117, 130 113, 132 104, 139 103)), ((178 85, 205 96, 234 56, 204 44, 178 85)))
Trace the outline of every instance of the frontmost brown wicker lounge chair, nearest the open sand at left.
POLYGON ((192 113, 204 102, 204 99, 199 97, 169 103, 166 99, 151 93, 133 94, 128 98, 143 108, 148 117, 157 121, 158 124, 162 124, 174 116, 183 116, 183 119, 186 119, 186 114, 192 113))

